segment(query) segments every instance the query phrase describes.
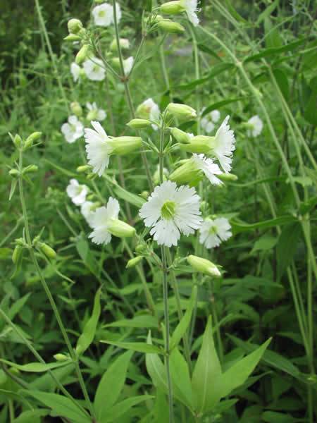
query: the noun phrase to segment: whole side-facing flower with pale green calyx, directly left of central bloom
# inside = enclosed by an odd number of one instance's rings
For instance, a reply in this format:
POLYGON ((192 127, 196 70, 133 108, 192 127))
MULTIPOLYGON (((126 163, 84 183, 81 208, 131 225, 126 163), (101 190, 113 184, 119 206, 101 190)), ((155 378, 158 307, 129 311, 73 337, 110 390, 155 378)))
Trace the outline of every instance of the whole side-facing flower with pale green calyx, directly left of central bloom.
POLYGON ((108 244, 111 235, 124 238, 135 234, 135 228, 118 219, 119 210, 118 200, 109 197, 106 207, 99 207, 94 212, 90 223, 94 231, 89 235, 93 243, 108 244))

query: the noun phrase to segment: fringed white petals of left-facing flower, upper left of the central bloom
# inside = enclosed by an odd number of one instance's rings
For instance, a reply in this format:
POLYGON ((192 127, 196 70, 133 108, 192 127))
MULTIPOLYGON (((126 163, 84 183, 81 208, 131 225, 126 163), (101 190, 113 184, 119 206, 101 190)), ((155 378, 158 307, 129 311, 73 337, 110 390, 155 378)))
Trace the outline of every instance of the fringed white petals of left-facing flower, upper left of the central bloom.
POLYGON ((94 129, 85 128, 85 141, 88 164, 92 166, 92 171, 99 176, 104 173, 104 169, 109 164, 109 154, 111 147, 108 145, 108 136, 99 122, 92 121, 94 129))

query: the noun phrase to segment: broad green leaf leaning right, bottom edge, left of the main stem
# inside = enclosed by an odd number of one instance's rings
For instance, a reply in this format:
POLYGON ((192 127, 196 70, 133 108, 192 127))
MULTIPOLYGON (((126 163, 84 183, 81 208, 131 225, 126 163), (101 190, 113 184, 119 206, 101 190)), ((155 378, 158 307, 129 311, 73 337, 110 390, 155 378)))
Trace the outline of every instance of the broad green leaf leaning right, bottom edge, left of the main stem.
POLYGON ((125 384, 131 357, 132 352, 127 351, 118 357, 102 376, 94 397, 98 421, 102 421, 109 415, 109 408, 118 400, 125 384))

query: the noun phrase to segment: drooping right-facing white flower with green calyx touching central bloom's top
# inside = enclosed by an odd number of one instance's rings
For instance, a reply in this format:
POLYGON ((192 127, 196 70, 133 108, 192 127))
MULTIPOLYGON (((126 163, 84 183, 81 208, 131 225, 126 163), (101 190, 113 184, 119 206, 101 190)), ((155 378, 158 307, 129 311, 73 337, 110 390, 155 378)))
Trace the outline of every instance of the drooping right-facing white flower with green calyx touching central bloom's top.
POLYGON ((206 176, 212 185, 220 185, 222 182, 216 175, 221 174, 218 164, 213 163, 213 159, 207 159, 204 154, 193 154, 190 159, 173 171, 169 178, 178 184, 189 183, 194 186, 206 176))

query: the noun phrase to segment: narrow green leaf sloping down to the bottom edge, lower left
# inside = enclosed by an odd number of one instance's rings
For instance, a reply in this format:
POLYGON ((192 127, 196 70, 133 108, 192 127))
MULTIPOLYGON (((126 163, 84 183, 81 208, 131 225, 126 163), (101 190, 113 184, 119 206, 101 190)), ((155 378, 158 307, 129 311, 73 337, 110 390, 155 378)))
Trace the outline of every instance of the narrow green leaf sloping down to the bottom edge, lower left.
POLYGON ((91 423, 91 419, 85 415, 80 407, 75 405, 70 399, 58 395, 57 393, 48 393, 41 391, 27 391, 21 390, 25 395, 33 396, 36 400, 40 401, 46 407, 51 408, 52 414, 58 417, 66 417, 70 421, 76 423, 91 423))

